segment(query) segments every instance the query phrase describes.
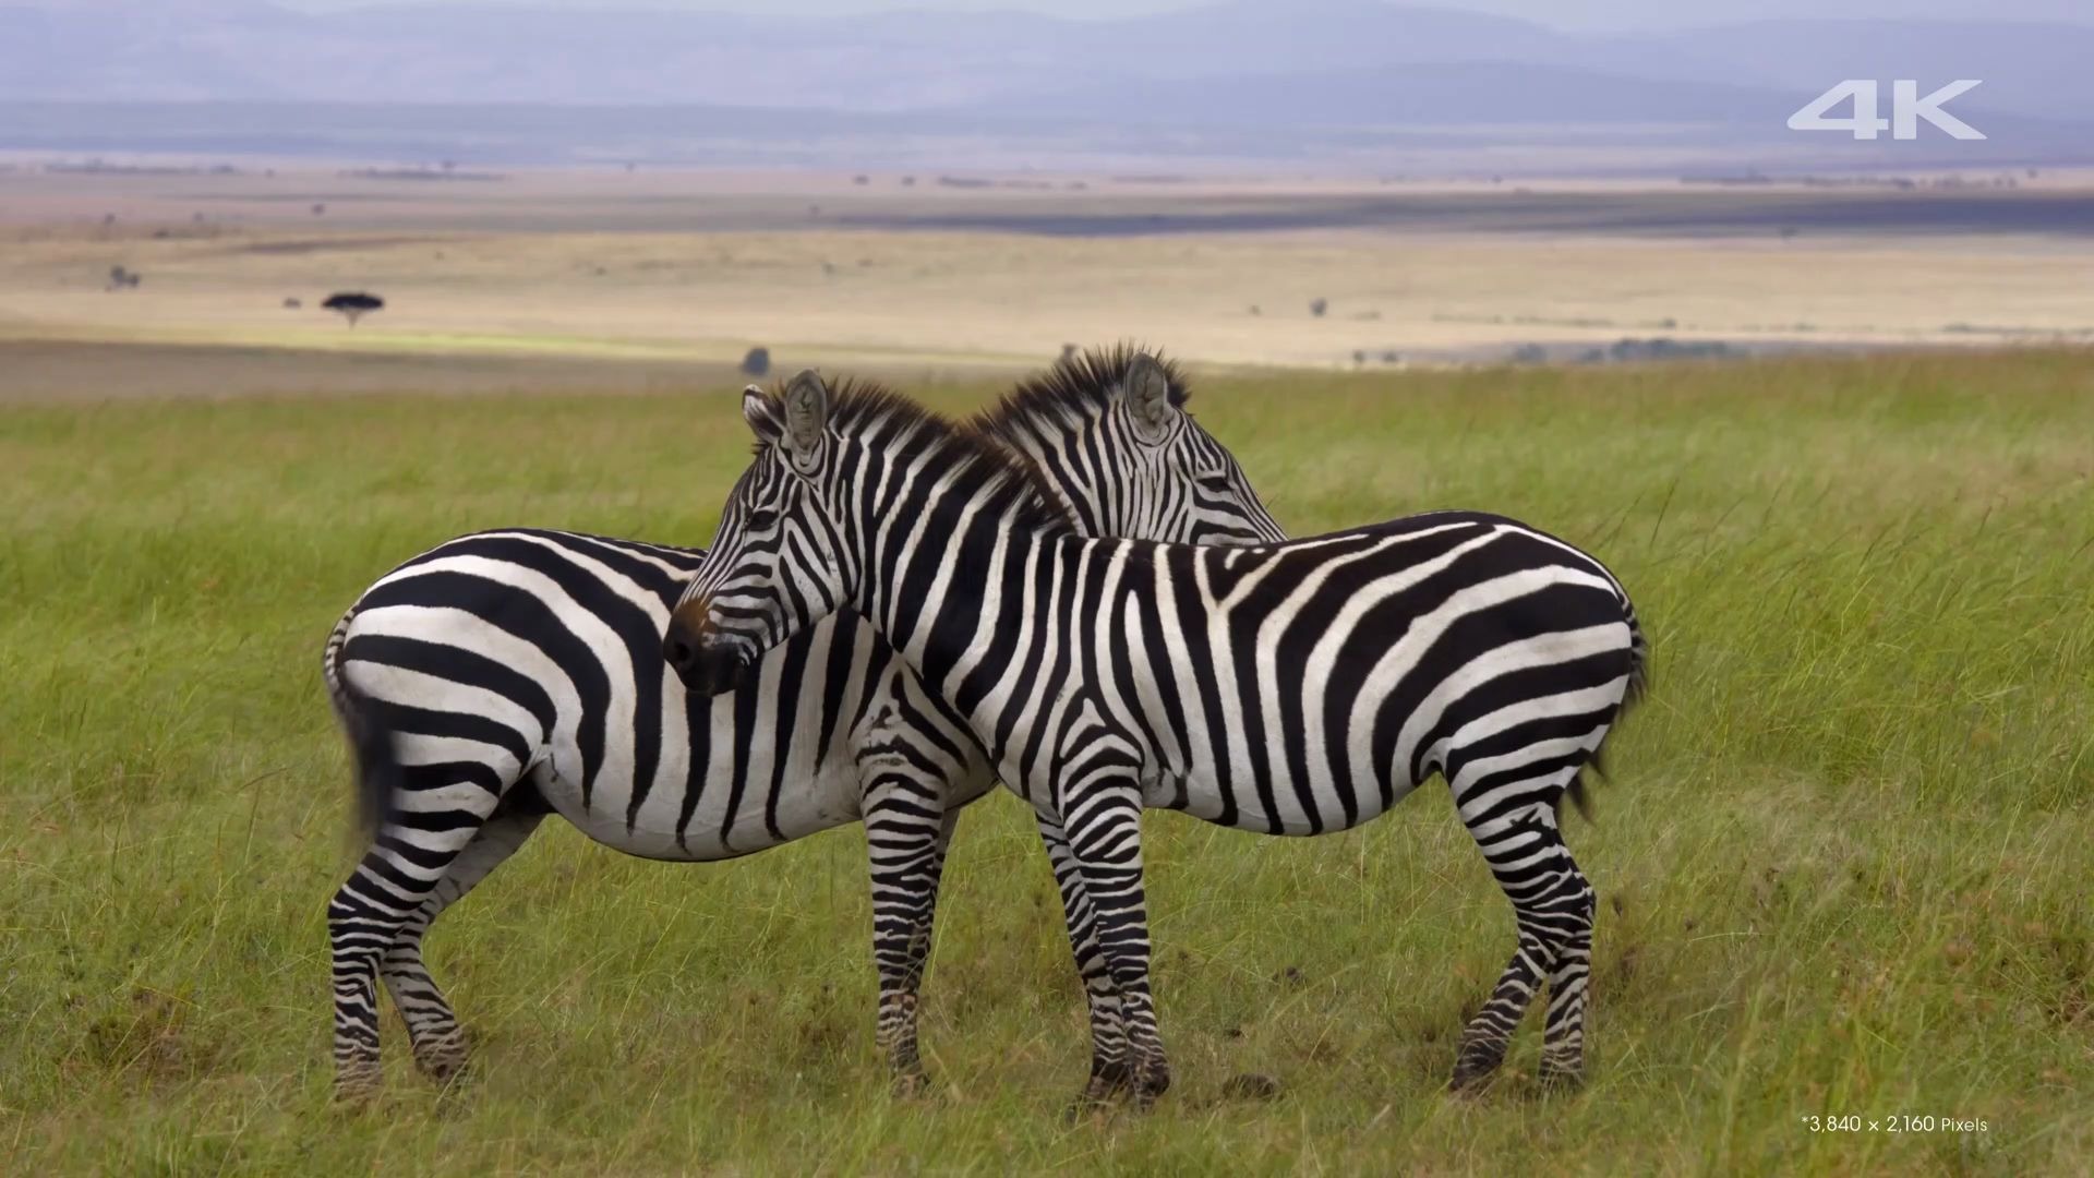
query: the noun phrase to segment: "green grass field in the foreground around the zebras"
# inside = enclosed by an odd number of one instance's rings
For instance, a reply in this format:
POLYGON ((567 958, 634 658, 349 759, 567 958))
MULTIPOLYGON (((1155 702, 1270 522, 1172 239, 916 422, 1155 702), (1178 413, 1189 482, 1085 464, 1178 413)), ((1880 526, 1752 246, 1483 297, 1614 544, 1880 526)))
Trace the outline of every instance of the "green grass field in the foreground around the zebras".
MULTIPOLYGON (((1206 381, 1298 535, 1443 505, 1602 555, 1656 646, 1598 824, 1591 1082, 1443 1094, 1510 910, 1439 788, 1351 834, 1152 815, 1177 1088, 1068 1126, 1085 1023, 1030 824, 961 824, 886 1096, 863 836, 722 866, 559 822, 431 937, 331 1107, 352 851, 335 616, 448 535, 704 543, 727 390, 0 413, 0 1172, 2094 1170, 2094 367, 2084 352, 1206 381), (1231 1075, 1282 1096, 1223 1096, 1231 1075), (1811 1134, 1809 1113, 1983 1119, 1811 1134)), ((949 409, 986 388, 940 390, 949 409)))

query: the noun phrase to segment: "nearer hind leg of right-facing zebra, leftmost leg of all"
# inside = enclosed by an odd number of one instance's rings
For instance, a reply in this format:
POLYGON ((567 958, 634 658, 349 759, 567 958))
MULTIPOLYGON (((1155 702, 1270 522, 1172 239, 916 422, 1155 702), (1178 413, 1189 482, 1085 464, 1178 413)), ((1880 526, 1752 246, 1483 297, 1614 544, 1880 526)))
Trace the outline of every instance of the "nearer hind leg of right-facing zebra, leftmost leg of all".
MULTIPOLYGON (((408 769, 410 778, 417 769, 408 769)), ((494 794, 456 782, 402 790, 398 809, 379 824, 371 849, 327 906, 327 937, 335 987, 335 1096, 362 1100, 377 1092, 379 1002, 377 966, 444 880, 452 859, 494 811, 494 794)))

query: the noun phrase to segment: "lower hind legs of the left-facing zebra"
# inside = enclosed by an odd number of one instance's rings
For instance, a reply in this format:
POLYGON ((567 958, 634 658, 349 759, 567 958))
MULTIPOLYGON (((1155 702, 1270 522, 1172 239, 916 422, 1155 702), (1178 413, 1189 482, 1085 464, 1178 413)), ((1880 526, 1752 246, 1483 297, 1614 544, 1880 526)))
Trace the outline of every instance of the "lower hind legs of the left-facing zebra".
MULTIPOLYGON (((1466 817, 1466 815, 1464 815, 1466 817)), ((1556 828, 1554 803, 1468 820, 1468 830, 1512 901, 1518 947, 1483 1010, 1462 1031, 1451 1088, 1474 1088, 1506 1059, 1520 1017, 1541 983, 1552 983, 1541 1075, 1583 1075, 1585 973, 1591 958, 1594 893, 1556 828)))

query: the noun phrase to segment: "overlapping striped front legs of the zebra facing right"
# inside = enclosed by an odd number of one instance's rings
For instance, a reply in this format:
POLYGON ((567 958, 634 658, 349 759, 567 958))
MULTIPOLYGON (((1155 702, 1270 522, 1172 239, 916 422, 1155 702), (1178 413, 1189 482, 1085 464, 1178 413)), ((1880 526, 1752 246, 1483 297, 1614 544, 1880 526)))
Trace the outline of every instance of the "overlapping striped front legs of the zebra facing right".
POLYGON ((875 1035, 894 1075, 894 1094, 915 1096, 928 1086, 917 1054, 917 991, 959 807, 946 809, 944 790, 911 773, 900 757, 871 767, 863 807, 873 872, 873 968, 879 975, 875 1035))

